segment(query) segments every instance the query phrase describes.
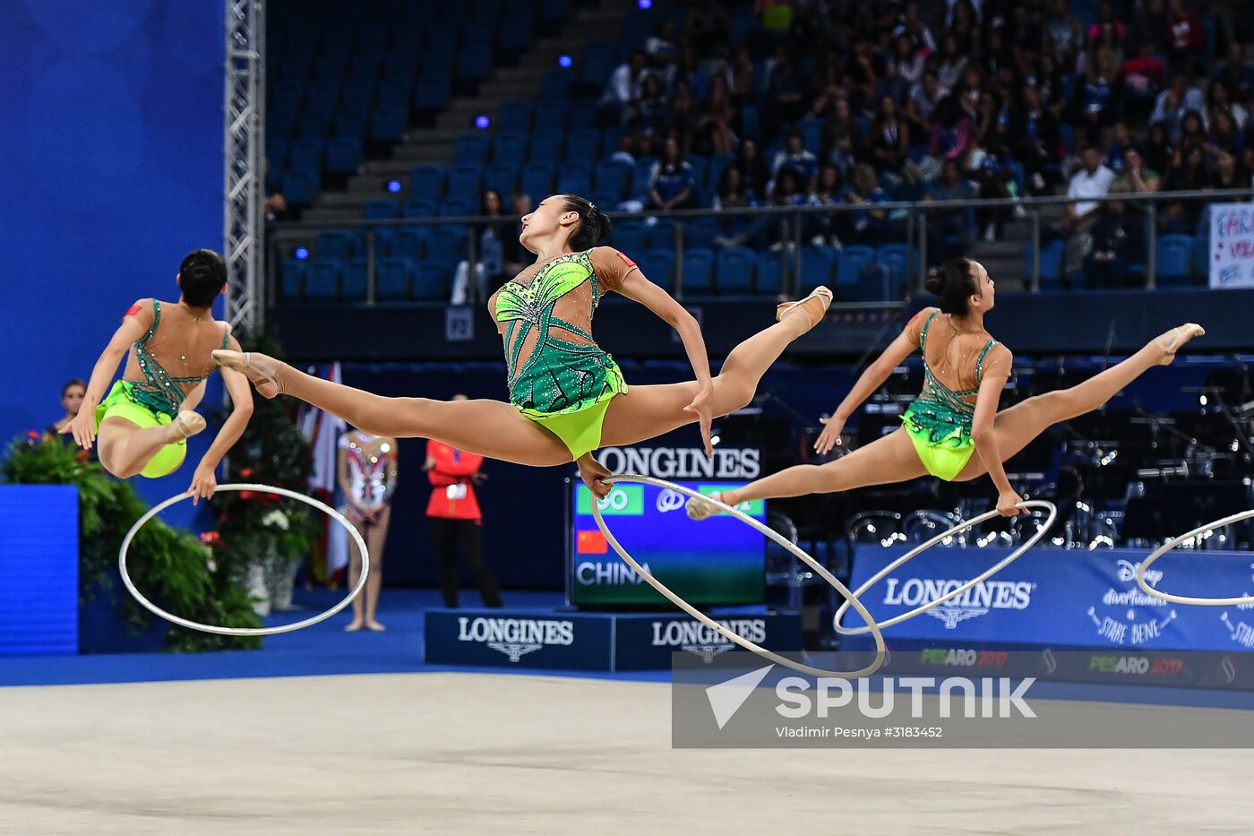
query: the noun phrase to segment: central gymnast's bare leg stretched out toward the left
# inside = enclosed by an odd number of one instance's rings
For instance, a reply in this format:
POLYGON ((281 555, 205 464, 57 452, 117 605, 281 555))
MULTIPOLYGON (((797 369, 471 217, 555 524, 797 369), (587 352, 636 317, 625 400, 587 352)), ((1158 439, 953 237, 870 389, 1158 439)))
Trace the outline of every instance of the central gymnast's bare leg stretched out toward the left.
POLYGON ((255 384, 265 385, 262 378, 268 375, 278 392, 339 415, 374 436, 435 438, 469 453, 534 467, 571 461, 571 451, 557 436, 500 400, 384 398, 305 374, 265 354, 252 353, 251 367, 240 351, 214 351, 213 359, 218 365, 247 374, 255 384))

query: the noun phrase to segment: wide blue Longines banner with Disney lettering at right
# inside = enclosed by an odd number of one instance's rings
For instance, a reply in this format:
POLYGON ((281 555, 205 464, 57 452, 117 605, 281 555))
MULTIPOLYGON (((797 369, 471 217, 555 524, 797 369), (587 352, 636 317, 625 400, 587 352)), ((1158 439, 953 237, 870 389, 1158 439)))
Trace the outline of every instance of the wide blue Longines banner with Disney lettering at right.
MULTIPOLYGON (((860 586, 904 551, 902 546, 859 546, 850 587, 860 586)), ((1007 554, 1006 549, 932 549, 875 584, 861 600, 884 620, 935 600, 1007 554)), ((1135 579, 1146 554, 1137 549, 1033 549, 957 599, 885 630, 885 635, 959 645, 1070 645, 1112 651, 1230 653, 1254 648, 1254 608, 1183 606, 1146 595, 1135 579)), ((1178 550, 1155 562, 1146 580, 1155 589, 1179 595, 1248 595, 1254 591, 1254 555, 1178 550)), ((851 611, 843 621, 846 626, 856 623, 851 611)), ((855 644, 861 646, 863 639, 855 644)))

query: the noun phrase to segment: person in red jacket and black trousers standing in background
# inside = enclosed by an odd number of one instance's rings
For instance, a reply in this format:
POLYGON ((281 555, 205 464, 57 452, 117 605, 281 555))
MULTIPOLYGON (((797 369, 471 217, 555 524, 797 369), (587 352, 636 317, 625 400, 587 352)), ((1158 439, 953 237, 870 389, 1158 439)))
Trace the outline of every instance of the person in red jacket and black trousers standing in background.
MULTIPOLYGON (((463 394, 454 400, 465 400, 463 394)), ((426 522, 440 557, 440 592, 444 605, 458 605, 458 545, 479 584, 479 594, 485 606, 500 606, 497 581, 483 562, 483 515, 474 486, 483 481, 479 472, 483 456, 463 452, 438 441, 426 442, 426 462, 423 469, 431 481, 431 500, 426 505, 426 522)))

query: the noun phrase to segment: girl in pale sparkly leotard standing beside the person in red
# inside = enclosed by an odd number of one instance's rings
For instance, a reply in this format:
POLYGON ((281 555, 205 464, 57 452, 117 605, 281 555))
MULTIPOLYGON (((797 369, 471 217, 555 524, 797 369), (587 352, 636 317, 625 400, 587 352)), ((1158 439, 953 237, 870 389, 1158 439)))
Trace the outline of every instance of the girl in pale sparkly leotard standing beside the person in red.
MULTIPOLYGON (((375 618, 379 608, 379 590, 384 579, 384 545, 391 522, 391 496, 396 490, 398 446, 395 438, 371 436, 349 428, 340 437, 337 477, 344 493, 344 516, 361 533, 370 552, 370 574, 362 595, 352 599, 352 621, 344 629, 380 631, 384 625, 375 618)), ((349 587, 361 577, 361 554, 356 544, 349 544, 349 587)))

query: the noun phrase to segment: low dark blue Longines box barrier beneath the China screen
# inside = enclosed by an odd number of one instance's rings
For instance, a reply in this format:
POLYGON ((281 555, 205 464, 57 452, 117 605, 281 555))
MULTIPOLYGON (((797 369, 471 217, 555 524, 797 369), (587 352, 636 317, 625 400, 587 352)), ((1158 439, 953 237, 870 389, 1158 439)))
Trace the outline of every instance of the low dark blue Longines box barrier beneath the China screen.
MULTIPOLYGON (((739 635, 772 650, 801 648, 796 613, 715 614, 739 635)), ((687 615, 564 610, 426 610, 429 664, 549 670, 667 670, 671 653, 710 662, 735 645, 687 615)))

